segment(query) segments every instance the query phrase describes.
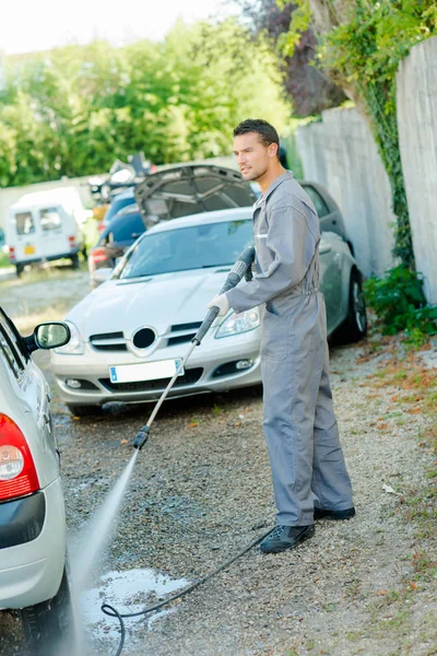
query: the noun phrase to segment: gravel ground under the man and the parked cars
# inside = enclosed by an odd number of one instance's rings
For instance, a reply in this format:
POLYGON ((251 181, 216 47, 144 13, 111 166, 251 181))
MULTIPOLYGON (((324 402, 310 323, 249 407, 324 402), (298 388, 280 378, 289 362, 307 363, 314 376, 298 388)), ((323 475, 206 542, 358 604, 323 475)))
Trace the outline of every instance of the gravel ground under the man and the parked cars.
MULTIPOLYGON (((421 532, 403 511, 429 484, 432 453, 421 436, 432 419, 395 402, 392 384, 375 385, 391 356, 369 354, 366 343, 331 351, 356 517, 318 522, 316 536, 291 552, 251 550, 153 624, 128 620, 125 654, 437 653, 435 582, 427 569, 417 575, 417 554, 435 558, 435 534, 421 532)), ((126 467, 126 440, 150 408, 73 420, 55 398, 54 410, 74 544, 126 467)), ((167 402, 139 455, 101 573, 152 567, 192 582, 268 530, 274 505, 261 421, 259 388, 167 402)), ((116 643, 94 640, 91 654, 114 654, 116 643)), ((0 655, 25 654, 16 617, 0 614, 0 655)))

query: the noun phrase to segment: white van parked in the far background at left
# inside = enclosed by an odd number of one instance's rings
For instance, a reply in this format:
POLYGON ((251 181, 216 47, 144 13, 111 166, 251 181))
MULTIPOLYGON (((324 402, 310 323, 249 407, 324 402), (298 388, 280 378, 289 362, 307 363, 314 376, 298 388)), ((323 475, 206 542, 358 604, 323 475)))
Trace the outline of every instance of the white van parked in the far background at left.
POLYGON ((76 189, 61 187, 25 194, 11 206, 5 226, 9 259, 21 276, 25 265, 69 258, 79 267, 86 255, 82 226, 86 220, 76 189))

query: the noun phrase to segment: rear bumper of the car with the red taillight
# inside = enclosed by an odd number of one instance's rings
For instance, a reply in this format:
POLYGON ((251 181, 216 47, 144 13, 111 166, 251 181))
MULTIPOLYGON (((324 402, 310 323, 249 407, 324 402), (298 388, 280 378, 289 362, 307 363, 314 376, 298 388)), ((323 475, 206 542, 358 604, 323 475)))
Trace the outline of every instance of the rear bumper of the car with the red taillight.
MULTIPOLYGON (((9 538, 9 543, 15 541, 14 544, 3 548, 0 543, 0 608, 25 608, 51 599, 59 589, 66 561, 66 514, 60 479, 20 501, 16 508, 21 508, 21 517, 26 520, 22 527, 10 506, 16 502, 0 504, 0 525, 1 520, 5 524, 9 514, 11 535, 15 536, 9 538), (35 502, 35 497, 44 499, 43 522, 42 502, 35 502), (32 507, 35 509, 36 504, 39 513, 32 518, 32 507), (40 529, 38 524, 42 524, 40 529), (23 541, 16 543, 20 534, 23 541)), ((2 528, 4 535, 7 529, 2 528)))

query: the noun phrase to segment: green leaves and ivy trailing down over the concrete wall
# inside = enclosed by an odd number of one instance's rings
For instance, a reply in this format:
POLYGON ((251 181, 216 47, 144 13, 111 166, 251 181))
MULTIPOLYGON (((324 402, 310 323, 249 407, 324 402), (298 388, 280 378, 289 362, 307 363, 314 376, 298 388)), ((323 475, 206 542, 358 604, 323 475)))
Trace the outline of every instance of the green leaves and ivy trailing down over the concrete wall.
MULTIPOLYGON (((311 0, 294 2, 298 9, 284 43, 288 55, 310 22, 311 0)), ((437 34, 437 4, 435 0, 321 0, 317 5, 326 12, 318 60, 330 78, 366 108, 398 218, 393 253, 414 269, 399 150, 395 73, 414 45, 437 34)))

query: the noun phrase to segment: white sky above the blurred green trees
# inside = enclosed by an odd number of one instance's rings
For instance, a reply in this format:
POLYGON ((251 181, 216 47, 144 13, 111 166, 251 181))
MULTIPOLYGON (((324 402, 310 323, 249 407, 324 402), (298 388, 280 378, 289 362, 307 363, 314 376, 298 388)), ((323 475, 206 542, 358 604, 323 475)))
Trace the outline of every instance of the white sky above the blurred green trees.
POLYGON ((232 0, 21 0, 2 12, 0 51, 48 50, 95 38, 116 46, 162 40, 178 17, 191 23, 237 11, 232 0))

